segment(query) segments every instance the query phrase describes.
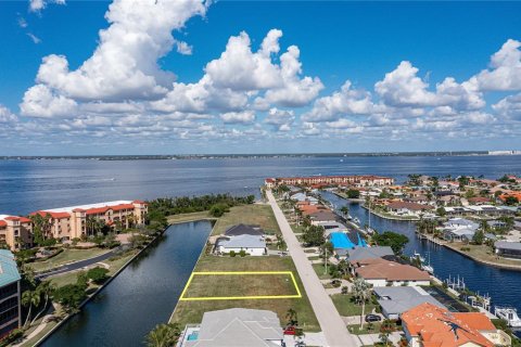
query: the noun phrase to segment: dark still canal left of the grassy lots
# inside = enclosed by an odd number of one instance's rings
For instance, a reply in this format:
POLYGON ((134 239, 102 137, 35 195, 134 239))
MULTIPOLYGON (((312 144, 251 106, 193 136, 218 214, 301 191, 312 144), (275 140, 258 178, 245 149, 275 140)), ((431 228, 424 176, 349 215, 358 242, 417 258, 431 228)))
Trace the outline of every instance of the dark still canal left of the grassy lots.
POLYGON ((208 221, 174 224, 42 346, 140 346, 168 321, 212 231, 208 221))

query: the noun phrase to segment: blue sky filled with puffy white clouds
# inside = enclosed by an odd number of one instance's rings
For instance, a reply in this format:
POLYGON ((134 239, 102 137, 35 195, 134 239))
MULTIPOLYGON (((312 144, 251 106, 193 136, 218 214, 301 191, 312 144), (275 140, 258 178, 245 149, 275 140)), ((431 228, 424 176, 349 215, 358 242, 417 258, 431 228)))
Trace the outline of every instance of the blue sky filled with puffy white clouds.
POLYGON ((521 147, 521 2, 158 1, 1 2, 0 155, 521 147))

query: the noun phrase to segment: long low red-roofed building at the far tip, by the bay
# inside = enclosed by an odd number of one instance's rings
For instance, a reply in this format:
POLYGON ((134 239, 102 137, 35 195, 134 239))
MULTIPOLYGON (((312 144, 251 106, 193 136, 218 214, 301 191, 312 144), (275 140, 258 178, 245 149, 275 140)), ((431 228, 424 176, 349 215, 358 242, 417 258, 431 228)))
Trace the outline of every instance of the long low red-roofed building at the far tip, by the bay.
POLYGON ((312 176, 312 177, 287 177, 287 178, 268 178, 265 180, 267 188, 274 188, 279 184, 288 185, 393 185, 394 179, 390 177, 381 177, 373 175, 363 176, 312 176))

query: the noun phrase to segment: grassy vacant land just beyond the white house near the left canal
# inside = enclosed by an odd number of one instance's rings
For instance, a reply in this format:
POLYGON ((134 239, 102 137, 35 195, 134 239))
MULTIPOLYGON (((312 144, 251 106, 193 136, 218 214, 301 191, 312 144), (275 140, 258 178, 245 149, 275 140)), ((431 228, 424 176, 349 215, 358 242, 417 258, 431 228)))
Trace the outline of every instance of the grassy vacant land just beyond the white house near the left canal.
POLYGON ((217 220, 212 234, 223 234, 228 228, 240 223, 258 224, 268 234, 280 234, 271 207, 256 204, 231 207, 229 213, 217 220))

